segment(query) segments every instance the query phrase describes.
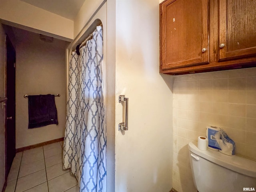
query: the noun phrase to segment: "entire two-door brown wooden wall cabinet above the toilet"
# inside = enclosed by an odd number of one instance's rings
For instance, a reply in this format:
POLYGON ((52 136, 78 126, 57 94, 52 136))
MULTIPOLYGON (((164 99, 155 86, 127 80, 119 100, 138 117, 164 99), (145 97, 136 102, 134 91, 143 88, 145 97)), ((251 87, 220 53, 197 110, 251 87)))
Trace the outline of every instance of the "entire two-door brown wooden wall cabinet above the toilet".
POLYGON ((165 0, 160 4, 160 73, 256 66, 255 0, 165 0))

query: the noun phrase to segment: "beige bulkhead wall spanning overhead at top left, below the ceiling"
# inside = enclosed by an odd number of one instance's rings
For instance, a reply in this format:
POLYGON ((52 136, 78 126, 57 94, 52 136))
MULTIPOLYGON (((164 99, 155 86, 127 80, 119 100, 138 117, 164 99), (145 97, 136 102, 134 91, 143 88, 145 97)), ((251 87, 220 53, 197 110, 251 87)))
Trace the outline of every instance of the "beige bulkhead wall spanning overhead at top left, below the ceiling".
POLYGON ((27 30, 47 32, 53 36, 74 39, 74 22, 20 0, 1 1, 0 19, 27 30))

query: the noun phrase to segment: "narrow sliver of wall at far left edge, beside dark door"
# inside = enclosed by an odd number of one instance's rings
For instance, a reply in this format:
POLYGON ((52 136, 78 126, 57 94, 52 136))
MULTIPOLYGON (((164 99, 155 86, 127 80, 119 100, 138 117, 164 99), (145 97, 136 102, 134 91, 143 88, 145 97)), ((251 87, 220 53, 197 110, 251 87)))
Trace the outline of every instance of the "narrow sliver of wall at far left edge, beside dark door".
MULTIPOLYGON (((0 23, 0 97, 5 97, 5 32, 0 23)), ((5 175, 5 108, 2 108, 0 103, 0 190, 4 186, 4 175, 5 175)))

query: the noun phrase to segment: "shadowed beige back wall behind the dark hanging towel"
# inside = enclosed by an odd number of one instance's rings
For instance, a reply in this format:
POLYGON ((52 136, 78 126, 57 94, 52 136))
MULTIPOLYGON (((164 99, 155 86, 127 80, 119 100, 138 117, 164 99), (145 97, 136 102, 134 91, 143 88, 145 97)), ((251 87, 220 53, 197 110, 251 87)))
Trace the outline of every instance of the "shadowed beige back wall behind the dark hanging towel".
POLYGON ((16 44, 16 148, 64 137, 66 110, 65 42, 45 43, 39 34, 18 30, 16 44), (60 94, 55 98, 58 125, 28 129, 24 94, 60 94))

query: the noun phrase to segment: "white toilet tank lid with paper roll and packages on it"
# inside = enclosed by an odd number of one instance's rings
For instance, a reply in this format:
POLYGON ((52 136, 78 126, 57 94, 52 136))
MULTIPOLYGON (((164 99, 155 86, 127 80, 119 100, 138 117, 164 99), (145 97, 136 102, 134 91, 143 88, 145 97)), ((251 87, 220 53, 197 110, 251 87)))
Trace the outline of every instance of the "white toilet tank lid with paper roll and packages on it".
POLYGON ((206 151, 197 148, 197 142, 193 141, 188 144, 188 149, 194 154, 216 163, 220 166, 226 167, 230 170, 256 178, 256 161, 241 157, 228 156, 221 152, 207 149, 206 151))

